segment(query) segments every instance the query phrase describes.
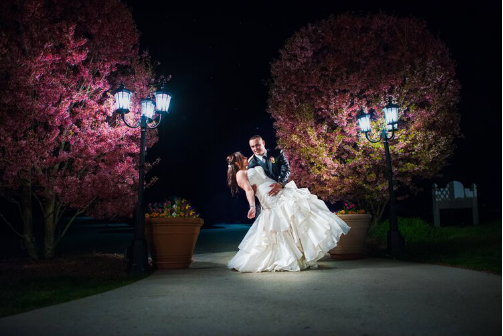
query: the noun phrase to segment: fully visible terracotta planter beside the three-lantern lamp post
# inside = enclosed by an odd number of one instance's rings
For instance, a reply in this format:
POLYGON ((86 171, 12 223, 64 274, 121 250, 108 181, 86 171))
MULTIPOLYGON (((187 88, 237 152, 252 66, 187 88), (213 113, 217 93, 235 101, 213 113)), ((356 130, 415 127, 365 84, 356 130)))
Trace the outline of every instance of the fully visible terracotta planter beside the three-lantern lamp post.
POLYGON ((201 218, 146 218, 145 234, 155 269, 188 268, 201 218))

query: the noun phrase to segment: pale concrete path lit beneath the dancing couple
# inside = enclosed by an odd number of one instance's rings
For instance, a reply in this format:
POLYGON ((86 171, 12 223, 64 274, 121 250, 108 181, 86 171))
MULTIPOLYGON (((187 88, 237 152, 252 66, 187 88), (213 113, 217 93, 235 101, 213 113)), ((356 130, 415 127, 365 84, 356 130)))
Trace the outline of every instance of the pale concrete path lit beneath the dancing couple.
POLYGON ((194 256, 114 291, 0 319, 0 335, 501 335, 502 278, 384 259, 240 274, 194 256))

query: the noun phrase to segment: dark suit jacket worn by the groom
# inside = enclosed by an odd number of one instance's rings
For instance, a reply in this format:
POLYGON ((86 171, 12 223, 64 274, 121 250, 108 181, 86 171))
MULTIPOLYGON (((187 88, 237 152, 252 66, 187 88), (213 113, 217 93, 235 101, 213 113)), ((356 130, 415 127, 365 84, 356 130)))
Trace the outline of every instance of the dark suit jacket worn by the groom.
POLYGON ((284 187, 288 182, 288 177, 290 176, 290 164, 288 163, 288 160, 282 150, 266 149, 266 151, 267 162, 264 163, 255 155, 252 155, 248 159, 248 169, 261 166, 264 168, 264 172, 268 177, 281 183, 284 187))

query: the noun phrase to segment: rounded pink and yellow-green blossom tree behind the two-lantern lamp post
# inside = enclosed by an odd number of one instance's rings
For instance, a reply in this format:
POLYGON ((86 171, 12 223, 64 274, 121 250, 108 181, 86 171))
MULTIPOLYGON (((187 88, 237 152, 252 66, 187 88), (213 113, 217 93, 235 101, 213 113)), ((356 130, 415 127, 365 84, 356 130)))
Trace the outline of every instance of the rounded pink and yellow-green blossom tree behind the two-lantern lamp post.
POLYGON ((402 108, 390 148, 402 195, 453 153, 460 85, 448 48, 422 21, 332 16, 294 34, 271 73, 268 111, 292 177, 326 201, 360 203, 374 223, 388 202, 385 154, 359 134, 360 108, 379 120, 390 97, 402 108))

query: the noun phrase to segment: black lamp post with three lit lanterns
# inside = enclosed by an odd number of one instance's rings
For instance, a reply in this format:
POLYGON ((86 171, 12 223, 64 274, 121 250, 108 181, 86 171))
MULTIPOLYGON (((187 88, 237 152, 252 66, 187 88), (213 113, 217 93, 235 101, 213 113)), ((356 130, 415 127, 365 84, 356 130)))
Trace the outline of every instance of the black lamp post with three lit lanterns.
POLYGON ((145 135, 147 129, 157 128, 161 124, 163 114, 168 112, 171 96, 162 85, 155 93, 155 101, 148 97, 140 100, 141 115, 136 124, 129 124, 126 114, 129 113, 132 93, 121 83, 114 92, 115 110, 122 116, 124 123, 130 128, 141 128, 140 137, 140 167, 138 179, 138 206, 136 209, 136 222, 134 227, 134 240, 129 248, 128 271, 140 273, 148 269, 148 247, 145 241, 145 214, 143 207, 143 185, 145 177, 145 135))

